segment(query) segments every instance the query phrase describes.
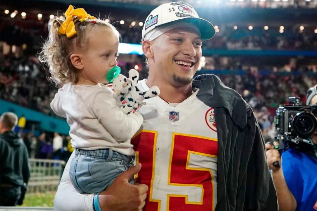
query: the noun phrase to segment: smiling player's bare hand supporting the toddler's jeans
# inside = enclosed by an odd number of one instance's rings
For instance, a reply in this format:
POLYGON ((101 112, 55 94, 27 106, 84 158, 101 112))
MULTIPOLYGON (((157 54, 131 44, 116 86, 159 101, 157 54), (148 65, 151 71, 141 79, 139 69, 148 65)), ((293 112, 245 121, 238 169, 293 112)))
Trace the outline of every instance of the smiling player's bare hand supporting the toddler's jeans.
POLYGON ((141 164, 137 164, 121 173, 100 193, 99 204, 103 211, 142 211, 149 188, 145 184, 129 184, 129 179, 140 169, 141 164))

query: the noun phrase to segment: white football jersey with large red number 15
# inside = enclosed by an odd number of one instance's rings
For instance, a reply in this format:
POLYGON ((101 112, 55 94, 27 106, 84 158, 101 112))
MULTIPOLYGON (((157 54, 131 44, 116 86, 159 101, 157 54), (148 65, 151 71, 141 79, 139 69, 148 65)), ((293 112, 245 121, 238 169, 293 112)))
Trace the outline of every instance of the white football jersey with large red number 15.
MULTIPOLYGON (((139 84, 144 90, 146 80, 139 84)), ((171 106, 159 97, 139 112, 142 131, 132 144, 142 169, 136 183, 149 186, 144 211, 213 211, 218 143, 213 108, 197 97, 171 106)))

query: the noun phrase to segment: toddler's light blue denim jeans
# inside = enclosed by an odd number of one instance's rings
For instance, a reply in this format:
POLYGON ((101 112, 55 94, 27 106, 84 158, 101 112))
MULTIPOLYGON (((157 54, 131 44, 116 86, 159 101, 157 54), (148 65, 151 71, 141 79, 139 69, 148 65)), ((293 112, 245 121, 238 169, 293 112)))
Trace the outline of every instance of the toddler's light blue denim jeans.
MULTIPOLYGON (((133 166, 135 156, 111 149, 76 149, 69 169, 70 179, 79 193, 99 193, 123 171, 133 166)), ((134 178, 129 181, 134 183, 134 178)))

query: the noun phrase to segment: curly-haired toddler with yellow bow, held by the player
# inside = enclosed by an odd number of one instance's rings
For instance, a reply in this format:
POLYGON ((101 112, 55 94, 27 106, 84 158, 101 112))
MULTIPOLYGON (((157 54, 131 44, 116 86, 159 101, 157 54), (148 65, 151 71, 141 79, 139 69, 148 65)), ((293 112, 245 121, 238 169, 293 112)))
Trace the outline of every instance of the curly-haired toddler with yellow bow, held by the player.
POLYGON ((138 112, 123 114, 113 91, 103 85, 111 82, 106 76, 117 65, 118 31, 83 8, 70 5, 64 15, 50 21, 39 57, 49 66, 50 79, 62 86, 51 108, 66 118, 76 148, 71 181, 79 193, 98 193, 133 165, 131 138, 143 118, 138 112))

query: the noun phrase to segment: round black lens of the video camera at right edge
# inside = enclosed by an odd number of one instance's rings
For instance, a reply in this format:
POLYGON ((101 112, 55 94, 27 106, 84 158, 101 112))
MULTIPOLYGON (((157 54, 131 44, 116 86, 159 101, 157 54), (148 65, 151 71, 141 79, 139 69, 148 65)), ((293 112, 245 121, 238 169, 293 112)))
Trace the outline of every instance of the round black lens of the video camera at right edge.
POLYGON ((317 121, 315 117, 309 113, 297 113, 292 122, 292 127, 301 138, 307 138, 315 132, 317 121))

